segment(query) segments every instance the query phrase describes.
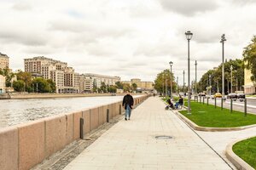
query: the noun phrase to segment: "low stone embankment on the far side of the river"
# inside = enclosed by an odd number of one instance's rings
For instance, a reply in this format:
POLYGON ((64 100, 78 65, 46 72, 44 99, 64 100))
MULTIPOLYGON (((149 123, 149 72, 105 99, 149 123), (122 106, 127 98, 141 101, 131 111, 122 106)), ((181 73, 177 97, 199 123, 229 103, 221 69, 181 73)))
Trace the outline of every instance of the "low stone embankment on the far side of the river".
MULTIPOLYGON (((123 96, 125 94, 115 94, 123 96)), ((132 94, 141 95, 141 94, 132 94)), ((51 99, 51 98, 75 98, 75 97, 96 97, 113 96, 113 94, 2 94, 0 99, 51 99)))

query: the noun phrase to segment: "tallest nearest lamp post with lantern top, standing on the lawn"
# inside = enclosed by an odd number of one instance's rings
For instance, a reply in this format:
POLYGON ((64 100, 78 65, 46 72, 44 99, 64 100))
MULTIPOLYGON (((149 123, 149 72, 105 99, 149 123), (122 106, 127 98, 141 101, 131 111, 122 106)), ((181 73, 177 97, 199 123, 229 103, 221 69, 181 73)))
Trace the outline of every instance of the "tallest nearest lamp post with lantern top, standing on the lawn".
POLYGON ((189 41, 191 40, 193 33, 190 31, 185 32, 186 38, 188 40, 188 114, 190 113, 190 63, 189 63, 189 41))

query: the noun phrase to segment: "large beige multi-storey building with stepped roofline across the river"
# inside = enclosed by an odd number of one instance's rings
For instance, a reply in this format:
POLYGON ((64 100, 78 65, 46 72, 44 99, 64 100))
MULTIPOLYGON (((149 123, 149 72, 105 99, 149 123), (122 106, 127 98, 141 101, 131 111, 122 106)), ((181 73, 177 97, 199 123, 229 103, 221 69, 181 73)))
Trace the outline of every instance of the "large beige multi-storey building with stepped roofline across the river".
POLYGON ((72 67, 67 67, 66 62, 49 59, 44 56, 24 59, 26 72, 34 77, 52 79, 55 82, 56 93, 78 93, 79 74, 72 67))

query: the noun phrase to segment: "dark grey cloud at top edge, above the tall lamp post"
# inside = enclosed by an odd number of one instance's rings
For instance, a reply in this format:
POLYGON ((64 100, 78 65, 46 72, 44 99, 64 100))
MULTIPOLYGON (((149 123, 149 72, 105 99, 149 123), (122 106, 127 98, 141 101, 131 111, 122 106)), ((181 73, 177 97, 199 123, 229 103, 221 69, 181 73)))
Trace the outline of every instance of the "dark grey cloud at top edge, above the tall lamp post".
POLYGON ((185 16, 193 16, 197 13, 205 13, 218 8, 216 1, 205 0, 160 0, 162 8, 175 12, 177 14, 183 14, 185 16))

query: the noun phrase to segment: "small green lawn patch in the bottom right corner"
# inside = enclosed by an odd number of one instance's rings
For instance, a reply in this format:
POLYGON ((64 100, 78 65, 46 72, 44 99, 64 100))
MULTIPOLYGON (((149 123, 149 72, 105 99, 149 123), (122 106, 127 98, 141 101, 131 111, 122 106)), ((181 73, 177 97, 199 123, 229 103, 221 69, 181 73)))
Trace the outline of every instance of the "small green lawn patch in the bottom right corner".
POLYGON ((256 137, 234 144, 233 151, 242 160, 256 169, 256 137))

